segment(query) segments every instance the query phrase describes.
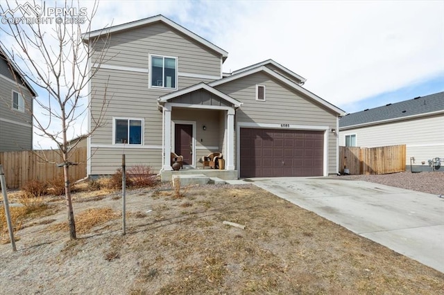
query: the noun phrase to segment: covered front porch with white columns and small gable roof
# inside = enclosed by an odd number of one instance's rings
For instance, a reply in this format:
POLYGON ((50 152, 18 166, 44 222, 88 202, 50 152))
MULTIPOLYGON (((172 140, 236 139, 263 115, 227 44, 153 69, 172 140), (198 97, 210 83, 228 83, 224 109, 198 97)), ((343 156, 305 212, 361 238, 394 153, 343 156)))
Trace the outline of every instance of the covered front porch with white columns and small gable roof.
POLYGON ((175 174, 237 179, 234 114, 240 102, 205 83, 161 96, 158 102, 163 113, 162 181, 175 174), (182 156, 180 171, 171 167, 172 152, 182 156), (203 157, 214 152, 223 155, 223 170, 203 169, 203 157))

